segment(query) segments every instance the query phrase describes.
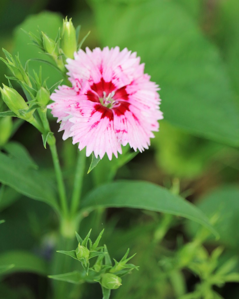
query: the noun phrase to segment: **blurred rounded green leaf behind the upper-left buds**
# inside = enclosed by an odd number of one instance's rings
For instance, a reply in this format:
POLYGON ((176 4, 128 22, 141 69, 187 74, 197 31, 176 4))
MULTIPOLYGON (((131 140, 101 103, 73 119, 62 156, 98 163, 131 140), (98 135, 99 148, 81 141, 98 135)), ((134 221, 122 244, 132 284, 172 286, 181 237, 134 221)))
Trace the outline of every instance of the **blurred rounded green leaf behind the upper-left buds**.
MULTIPOLYGON (((22 65, 25 65, 27 60, 31 58, 38 58, 53 62, 47 55, 39 53, 39 48, 32 45, 30 37, 23 31, 32 32, 39 37, 38 30, 46 33, 50 38, 55 39, 59 27, 62 26, 62 17, 57 13, 41 12, 37 15, 28 16, 23 23, 21 23, 14 32, 14 50, 13 54, 19 53, 19 58, 22 65), (49 26, 50 24, 50 26, 49 26), (23 30, 22 30, 23 29, 23 30)), ((37 61, 29 62, 29 72, 33 74, 33 69, 37 71, 42 66, 42 79, 47 79, 47 85, 52 86, 57 81, 63 79, 62 75, 53 67, 37 61)))

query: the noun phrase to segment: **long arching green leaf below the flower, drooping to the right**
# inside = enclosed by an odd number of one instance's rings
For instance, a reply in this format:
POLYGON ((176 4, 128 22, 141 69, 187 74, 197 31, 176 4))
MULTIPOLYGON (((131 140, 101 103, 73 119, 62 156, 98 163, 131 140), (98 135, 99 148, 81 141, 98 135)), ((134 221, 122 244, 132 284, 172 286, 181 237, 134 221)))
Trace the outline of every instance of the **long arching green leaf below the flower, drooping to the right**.
POLYGON ((81 205, 82 212, 110 207, 137 208, 185 217, 217 235, 208 218, 197 207, 168 189, 146 181, 116 181, 102 185, 88 193, 81 205))

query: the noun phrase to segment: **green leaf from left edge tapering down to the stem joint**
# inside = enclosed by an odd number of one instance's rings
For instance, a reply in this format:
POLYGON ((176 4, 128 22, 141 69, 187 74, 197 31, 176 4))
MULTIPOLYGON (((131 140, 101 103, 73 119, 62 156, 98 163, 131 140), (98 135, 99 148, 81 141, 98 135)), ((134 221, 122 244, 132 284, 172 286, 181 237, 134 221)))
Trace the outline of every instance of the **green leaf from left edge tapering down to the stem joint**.
POLYGON ((54 185, 39 170, 24 162, 21 157, 0 152, 0 182, 58 210, 54 185))

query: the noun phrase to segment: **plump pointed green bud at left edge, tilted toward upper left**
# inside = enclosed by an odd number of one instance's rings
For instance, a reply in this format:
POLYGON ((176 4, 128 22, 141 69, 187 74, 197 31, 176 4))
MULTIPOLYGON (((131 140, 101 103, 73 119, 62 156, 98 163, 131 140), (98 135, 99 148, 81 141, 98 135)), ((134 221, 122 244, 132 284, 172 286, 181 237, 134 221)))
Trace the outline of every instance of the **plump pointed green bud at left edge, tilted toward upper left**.
POLYGON ((3 84, 3 89, 0 87, 2 99, 7 107, 12 110, 19 118, 31 122, 33 120, 33 110, 28 111, 29 107, 23 97, 13 88, 3 84))

